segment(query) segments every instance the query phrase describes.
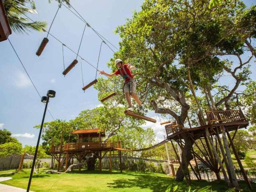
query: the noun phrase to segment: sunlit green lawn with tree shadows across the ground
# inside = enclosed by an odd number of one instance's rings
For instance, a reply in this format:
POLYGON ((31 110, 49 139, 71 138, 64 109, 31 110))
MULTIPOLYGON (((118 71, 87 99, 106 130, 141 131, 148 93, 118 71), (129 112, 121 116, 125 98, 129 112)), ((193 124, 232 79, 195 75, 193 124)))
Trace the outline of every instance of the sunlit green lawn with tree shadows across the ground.
MULTIPOLYGON (((34 174, 30 188, 34 192, 164 192, 171 183, 184 189, 188 187, 186 181, 176 182, 174 178, 159 173, 124 171, 120 174, 114 171, 110 174, 108 170, 102 172, 82 170, 63 174, 45 174, 45 170, 41 169, 39 174, 34 174)), ((7 171, 0 173, 4 172, 7 171)), ((10 176, 13 179, 0 183, 26 189, 29 174, 29 169, 14 175, 1 174, 1 176, 10 176)), ((218 192, 224 192, 228 189, 223 181, 192 181, 191 187, 195 189, 208 185, 211 185, 213 190, 218 192)), ((244 182, 241 182, 240 186, 246 188, 244 182)), ((256 184, 253 187, 256 188, 256 184)))

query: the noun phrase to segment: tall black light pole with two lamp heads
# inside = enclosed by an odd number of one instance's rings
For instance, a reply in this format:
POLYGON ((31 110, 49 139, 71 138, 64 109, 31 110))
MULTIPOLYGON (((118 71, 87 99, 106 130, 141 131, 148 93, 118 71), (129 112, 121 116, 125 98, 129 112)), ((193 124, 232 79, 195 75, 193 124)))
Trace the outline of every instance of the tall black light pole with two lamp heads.
POLYGON ((46 104, 45 104, 45 108, 44 108, 44 115, 43 115, 43 119, 42 119, 42 123, 41 123, 41 127, 40 127, 40 132, 39 132, 39 135, 38 135, 38 140, 37 140, 37 144, 36 144, 36 151, 35 151, 35 154, 34 154, 34 159, 33 159, 32 168, 31 168, 31 172, 30 172, 30 177, 29 177, 29 181, 28 181, 27 192, 29 192, 29 189, 30 189, 30 184, 31 184, 31 180, 32 180, 33 172, 34 172, 34 166, 36 164, 36 156, 37 156, 38 146, 39 146, 39 142, 40 142, 40 138, 41 138, 41 134, 42 134, 42 130, 43 130, 44 118, 45 118, 45 114, 46 114, 49 98, 50 97, 54 98, 55 94, 56 94, 55 91, 48 90, 47 97, 43 96, 41 98, 41 102, 46 103, 46 104))

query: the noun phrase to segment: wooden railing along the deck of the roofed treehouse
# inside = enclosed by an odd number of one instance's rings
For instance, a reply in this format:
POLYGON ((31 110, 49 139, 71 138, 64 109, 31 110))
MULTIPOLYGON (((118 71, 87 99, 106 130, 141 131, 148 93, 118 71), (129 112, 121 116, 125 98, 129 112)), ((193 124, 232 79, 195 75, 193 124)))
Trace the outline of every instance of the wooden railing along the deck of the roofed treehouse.
POLYGON ((81 142, 81 143, 66 143, 62 146, 52 146, 51 152, 61 151, 74 151, 74 150, 86 150, 86 149, 103 149, 103 148, 120 148, 120 141, 102 141, 102 142, 81 142))

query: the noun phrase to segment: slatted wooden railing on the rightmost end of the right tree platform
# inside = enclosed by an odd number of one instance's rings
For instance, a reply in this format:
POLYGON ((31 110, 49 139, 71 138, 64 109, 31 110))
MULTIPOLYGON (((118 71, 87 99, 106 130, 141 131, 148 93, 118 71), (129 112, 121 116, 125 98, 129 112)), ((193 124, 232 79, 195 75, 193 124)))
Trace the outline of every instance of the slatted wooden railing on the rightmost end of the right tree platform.
POLYGON ((208 124, 245 122, 242 110, 206 111, 208 124))

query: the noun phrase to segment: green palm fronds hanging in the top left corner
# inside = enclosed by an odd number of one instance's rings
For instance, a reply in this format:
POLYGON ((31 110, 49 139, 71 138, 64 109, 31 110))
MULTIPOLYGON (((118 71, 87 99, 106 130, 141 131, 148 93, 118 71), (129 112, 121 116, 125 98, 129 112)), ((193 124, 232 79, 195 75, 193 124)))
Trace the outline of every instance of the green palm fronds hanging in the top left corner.
POLYGON ((12 30, 16 33, 27 33, 31 30, 44 31, 46 22, 28 22, 24 14, 37 14, 35 3, 32 0, 5 0, 4 8, 12 30), (28 5, 30 4, 31 8, 28 5))

